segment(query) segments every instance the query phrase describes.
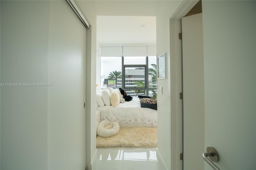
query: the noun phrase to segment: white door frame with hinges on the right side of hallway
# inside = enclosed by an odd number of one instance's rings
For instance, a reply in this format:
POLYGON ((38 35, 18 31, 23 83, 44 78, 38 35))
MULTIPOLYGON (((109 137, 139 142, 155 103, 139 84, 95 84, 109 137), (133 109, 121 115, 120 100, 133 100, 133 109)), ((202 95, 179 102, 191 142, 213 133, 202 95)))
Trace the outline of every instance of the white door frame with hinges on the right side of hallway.
POLYGON ((171 84, 171 170, 182 170, 183 161, 183 121, 182 121, 182 43, 178 38, 181 32, 181 18, 185 16, 199 0, 184 0, 170 18, 170 84, 171 84))

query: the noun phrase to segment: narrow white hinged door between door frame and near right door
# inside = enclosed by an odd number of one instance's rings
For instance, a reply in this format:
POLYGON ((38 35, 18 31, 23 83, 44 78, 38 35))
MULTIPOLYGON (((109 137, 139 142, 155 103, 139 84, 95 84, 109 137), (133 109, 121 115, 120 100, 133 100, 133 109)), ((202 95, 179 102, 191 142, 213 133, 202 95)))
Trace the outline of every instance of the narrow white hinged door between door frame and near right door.
POLYGON ((184 170, 204 169, 202 13, 182 18, 184 170))

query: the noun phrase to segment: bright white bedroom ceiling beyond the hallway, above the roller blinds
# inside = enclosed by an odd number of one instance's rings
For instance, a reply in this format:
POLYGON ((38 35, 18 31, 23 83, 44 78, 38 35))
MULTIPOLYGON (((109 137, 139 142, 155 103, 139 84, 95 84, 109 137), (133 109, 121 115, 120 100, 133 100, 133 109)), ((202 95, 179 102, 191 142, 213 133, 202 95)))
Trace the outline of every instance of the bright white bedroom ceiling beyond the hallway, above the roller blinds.
POLYGON ((156 44, 154 16, 97 16, 97 41, 101 44, 156 44))

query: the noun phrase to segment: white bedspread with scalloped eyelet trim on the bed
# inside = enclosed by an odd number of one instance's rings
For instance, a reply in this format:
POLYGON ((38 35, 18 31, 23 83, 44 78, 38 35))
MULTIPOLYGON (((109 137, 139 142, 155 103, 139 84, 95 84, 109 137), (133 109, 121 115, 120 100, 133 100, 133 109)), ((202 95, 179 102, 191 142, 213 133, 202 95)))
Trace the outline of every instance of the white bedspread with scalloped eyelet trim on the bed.
POLYGON ((157 127, 157 111, 140 107, 140 99, 120 103, 117 107, 104 106, 100 109, 100 121, 116 121, 122 126, 157 127))

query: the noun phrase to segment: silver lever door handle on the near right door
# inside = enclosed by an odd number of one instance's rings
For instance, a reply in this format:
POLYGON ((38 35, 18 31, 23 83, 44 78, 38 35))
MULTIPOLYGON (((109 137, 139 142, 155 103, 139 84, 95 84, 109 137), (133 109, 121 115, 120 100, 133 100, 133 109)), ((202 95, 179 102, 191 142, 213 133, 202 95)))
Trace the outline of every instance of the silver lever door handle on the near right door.
POLYGON ((220 170, 220 168, 213 163, 219 161, 219 154, 216 149, 207 147, 206 152, 203 153, 203 158, 214 170, 220 170))

